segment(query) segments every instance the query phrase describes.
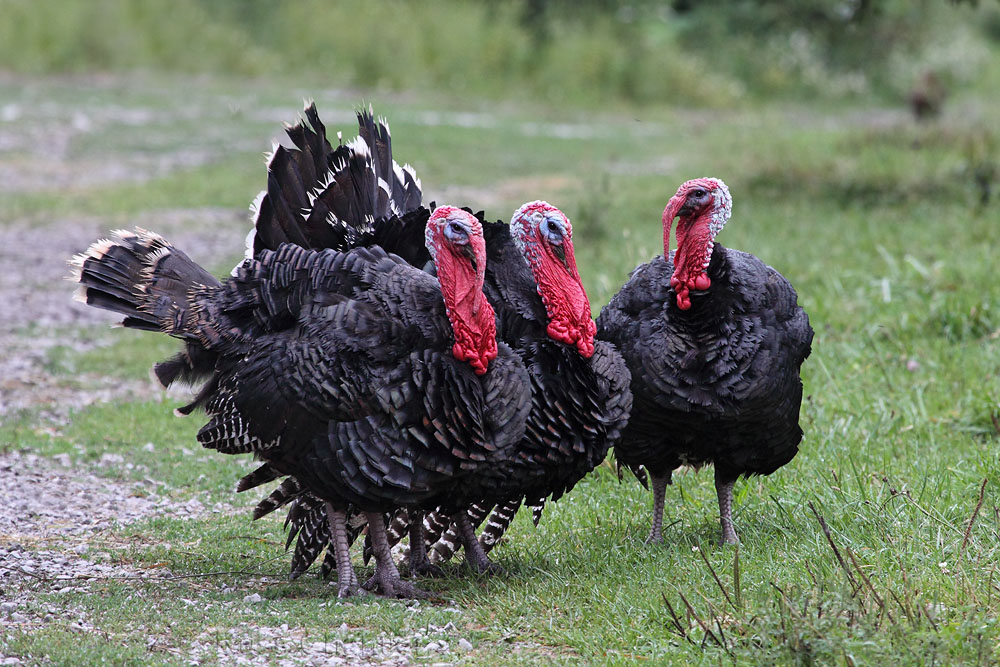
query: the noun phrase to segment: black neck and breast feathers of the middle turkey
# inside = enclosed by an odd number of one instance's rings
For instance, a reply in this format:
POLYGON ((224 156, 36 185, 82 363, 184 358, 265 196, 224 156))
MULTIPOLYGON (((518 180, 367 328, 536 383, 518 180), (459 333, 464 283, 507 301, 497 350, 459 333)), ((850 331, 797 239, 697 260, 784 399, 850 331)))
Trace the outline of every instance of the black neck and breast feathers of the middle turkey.
MULTIPOLYGON (((483 289, 497 312, 497 335, 528 369, 532 402, 525 437, 515 459, 505 464, 510 467, 511 492, 483 499, 469 509, 474 525, 490 515, 479 538, 489 553, 522 503, 535 509, 537 524, 547 499, 558 500, 605 459, 628 421, 632 393, 628 368, 613 345, 596 341, 593 355, 585 357, 548 334, 549 314, 531 268, 511 238, 510 226, 487 223, 484 235, 483 289)), ((566 244, 572 248, 571 239, 566 244)), ((440 520, 428 518, 431 536, 435 535, 432 523, 441 525, 440 520)), ((431 546, 431 562, 450 558, 461 546, 459 538, 456 528, 449 528, 431 546)))

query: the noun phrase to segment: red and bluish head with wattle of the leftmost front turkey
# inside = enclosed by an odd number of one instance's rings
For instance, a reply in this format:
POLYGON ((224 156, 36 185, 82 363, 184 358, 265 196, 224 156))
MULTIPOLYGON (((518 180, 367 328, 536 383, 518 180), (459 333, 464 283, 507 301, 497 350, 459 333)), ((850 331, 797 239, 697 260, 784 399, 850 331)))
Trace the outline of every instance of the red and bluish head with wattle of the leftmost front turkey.
POLYGON ((424 228, 424 243, 434 260, 441 294, 455 334, 452 354, 483 375, 497 356, 493 307, 483 294, 486 242, 483 226, 471 213, 439 206, 424 228))

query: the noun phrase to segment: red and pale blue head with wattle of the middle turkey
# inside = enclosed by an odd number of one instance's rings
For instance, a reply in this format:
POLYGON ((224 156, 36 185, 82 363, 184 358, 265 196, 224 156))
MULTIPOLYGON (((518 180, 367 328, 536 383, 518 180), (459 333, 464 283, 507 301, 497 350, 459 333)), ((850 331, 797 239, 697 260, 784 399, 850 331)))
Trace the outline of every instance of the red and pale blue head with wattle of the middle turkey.
POLYGON ((597 326, 576 268, 569 218, 547 202, 533 201, 514 212, 510 230, 545 304, 546 333, 553 340, 575 345, 589 358, 594 354, 597 326))

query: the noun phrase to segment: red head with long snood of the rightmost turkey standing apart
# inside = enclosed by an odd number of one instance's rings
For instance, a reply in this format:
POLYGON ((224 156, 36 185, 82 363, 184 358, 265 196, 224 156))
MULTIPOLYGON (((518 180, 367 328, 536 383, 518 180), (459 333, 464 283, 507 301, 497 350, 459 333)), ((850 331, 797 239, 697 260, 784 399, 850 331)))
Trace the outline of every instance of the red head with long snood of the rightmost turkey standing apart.
POLYGON ((715 236, 733 213, 733 198, 717 178, 696 178, 677 189, 663 211, 663 253, 670 255, 670 228, 677 221, 677 252, 670 286, 677 292, 677 307, 691 307, 692 290, 712 286, 708 264, 712 261, 715 236))

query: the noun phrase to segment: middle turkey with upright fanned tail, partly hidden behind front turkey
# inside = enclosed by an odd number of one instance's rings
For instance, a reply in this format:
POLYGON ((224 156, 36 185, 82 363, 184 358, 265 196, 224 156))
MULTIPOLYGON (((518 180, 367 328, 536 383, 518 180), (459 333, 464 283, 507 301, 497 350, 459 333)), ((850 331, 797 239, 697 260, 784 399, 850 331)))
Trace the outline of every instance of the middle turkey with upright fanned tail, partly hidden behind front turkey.
MULTIPOLYGON (((420 181, 408 165, 392 158, 389 128, 371 109, 358 113, 357 139, 333 148, 314 105, 302 122, 287 129, 294 148, 276 148, 268 165, 268 189, 256 206, 248 256, 282 241, 308 247, 379 245, 417 267, 428 255, 419 240, 429 211, 420 205, 420 181)), ((482 214, 477 214, 482 220, 482 214)), ((525 204, 508 226, 483 221, 486 238, 487 299, 497 314, 498 335, 514 348, 531 375, 532 411, 528 434, 510 468, 509 493, 470 508, 477 525, 493 504, 506 501, 481 538, 485 551, 502 535, 527 496, 532 502, 558 498, 606 456, 631 408, 629 375, 617 351, 594 344, 595 326, 573 254, 572 226, 557 208, 541 201, 525 204)), ((287 498, 279 499, 288 500, 287 498)), ((323 522, 296 512, 289 524, 323 522)), ((270 510, 272 503, 259 511, 270 510)), ((315 503, 313 503, 315 505, 315 503)), ((317 508, 314 512, 321 511, 317 508)), ((401 512, 390 536, 410 533, 413 572, 437 573, 424 553, 420 513, 401 512)), ((451 524, 428 517, 431 539, 451 524)), ((438 559, 450 556, 468 538, 464 519, 435 545, 438 559)), ((291 538, 290 538, 291 539, 291 538)), ((308 567, 326 545, 322 529, 302 531, 293 556, 293 575, 308 567)), ((470 556, 468 549, 466 557, 470 556)), ((495 570, 476 558, 480 571, 495 570)), ((329 568, 326 568, 328 571, 329 568)))

